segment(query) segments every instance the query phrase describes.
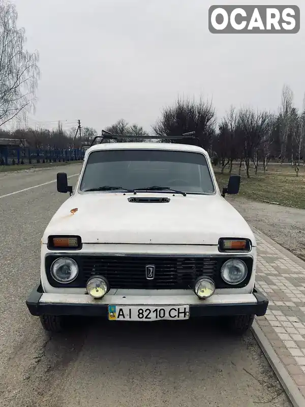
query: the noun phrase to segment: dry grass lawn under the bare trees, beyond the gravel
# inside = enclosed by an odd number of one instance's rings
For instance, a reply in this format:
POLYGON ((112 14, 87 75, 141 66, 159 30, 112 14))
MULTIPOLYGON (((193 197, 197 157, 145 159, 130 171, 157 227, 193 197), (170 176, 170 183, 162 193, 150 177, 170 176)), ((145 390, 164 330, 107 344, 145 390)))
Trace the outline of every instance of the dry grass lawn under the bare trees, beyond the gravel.
MULTIPOLYGON (((239 166, 234 165, 232 174, 238 174, 238 169, 239 166)), ((224 174, 221 174, 219 167, 215 167, 214 170, 222 190, 228 183, 229 171, 225 169, 224 174)), ((250 177, 250 179, 247 178, 246 171, 242 168, 240 196, 305 209, 305 167, 300 166, 298 177, 296 177, 291 165, 269 164, 266 174, 261 167, 257 175, 251 169, 250 177)))

